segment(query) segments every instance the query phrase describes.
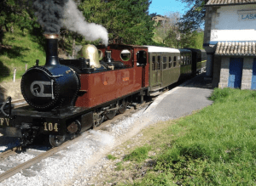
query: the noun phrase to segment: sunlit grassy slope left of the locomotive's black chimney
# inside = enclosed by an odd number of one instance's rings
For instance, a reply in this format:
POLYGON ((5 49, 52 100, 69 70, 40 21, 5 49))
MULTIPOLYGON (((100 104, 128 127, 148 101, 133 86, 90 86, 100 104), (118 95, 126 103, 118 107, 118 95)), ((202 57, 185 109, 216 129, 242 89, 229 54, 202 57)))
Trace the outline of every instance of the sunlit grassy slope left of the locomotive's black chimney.
POLYGON ((11 81, 14 69, 16 68, 16 79, 20 79, 27 69, 35 65, 36 59, 39 59, 39 65, 45 63, 44 47, 42 40, 32 36, 28 31, 20 31, 15 28, 15 33, 5 32, 3 45, 11 48, 2 48, 0 50, 0 82, 11 81))

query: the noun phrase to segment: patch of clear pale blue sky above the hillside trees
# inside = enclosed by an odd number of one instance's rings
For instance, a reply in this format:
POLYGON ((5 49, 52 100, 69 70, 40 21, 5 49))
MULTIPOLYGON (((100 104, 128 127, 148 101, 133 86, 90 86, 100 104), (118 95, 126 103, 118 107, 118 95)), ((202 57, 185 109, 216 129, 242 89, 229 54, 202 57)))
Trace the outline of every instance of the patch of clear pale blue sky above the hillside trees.
POLYGON ((181 15, 187 10, 186 3, 177 0, 152 0, 149 6, 149 14, 157 13, 165 15, 168 12, 179 12, 181 15))

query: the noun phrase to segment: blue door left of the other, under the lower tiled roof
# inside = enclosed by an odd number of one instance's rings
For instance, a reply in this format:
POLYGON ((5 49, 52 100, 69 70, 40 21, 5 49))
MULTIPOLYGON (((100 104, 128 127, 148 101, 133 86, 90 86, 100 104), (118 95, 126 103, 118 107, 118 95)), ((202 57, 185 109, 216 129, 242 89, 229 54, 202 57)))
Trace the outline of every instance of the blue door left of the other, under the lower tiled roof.
POLYGON ((230 58, 230 76, 228 87, 241 87, 242 58, 230 58))

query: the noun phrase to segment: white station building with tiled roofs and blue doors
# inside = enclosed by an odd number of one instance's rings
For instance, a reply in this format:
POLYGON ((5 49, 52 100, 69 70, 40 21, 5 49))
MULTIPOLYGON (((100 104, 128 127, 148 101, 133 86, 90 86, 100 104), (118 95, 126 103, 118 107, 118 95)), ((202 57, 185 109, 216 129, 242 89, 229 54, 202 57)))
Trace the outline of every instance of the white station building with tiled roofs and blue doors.
POLYGON ((204 48, 214 87, 256 89, 256 1, 206 0, 204 48))

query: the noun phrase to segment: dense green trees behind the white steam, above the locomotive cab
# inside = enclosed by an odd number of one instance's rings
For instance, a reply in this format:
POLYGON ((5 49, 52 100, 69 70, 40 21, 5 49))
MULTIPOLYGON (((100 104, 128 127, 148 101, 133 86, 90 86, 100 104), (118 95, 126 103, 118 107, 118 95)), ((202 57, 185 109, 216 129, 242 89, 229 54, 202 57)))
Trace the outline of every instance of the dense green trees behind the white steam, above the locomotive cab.
POLYGON ((85 20, 105 26, 109 39, 122 38, 125 44, 148 44, 153 37, 153 24, 148 15, 148 0, 89 0, 79 8, 85 20))

